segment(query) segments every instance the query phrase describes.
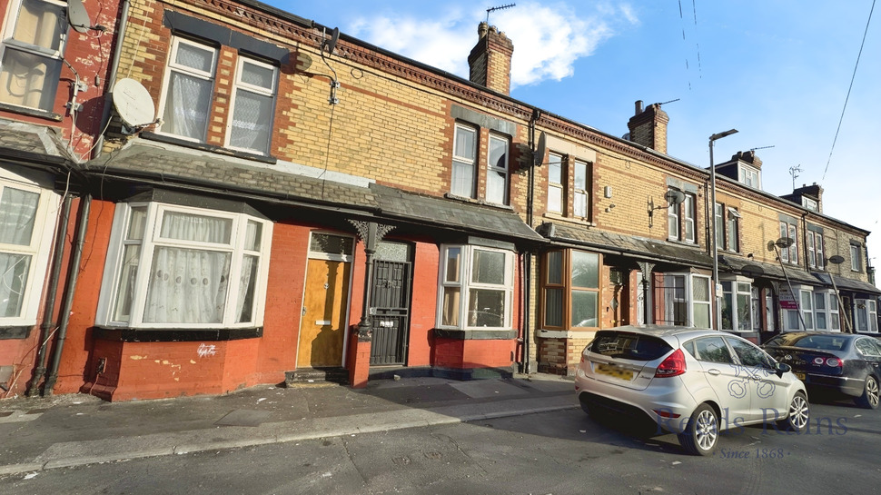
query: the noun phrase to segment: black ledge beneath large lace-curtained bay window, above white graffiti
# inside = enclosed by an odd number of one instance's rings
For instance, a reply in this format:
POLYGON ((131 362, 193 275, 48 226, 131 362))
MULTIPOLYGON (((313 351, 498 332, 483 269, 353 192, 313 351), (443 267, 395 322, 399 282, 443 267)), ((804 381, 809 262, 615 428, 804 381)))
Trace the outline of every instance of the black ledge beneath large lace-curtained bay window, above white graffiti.
POLYGON ((263 327, 135 329, 94 327, 95 339, 115 342, 220 342, 257 339, 263 327))

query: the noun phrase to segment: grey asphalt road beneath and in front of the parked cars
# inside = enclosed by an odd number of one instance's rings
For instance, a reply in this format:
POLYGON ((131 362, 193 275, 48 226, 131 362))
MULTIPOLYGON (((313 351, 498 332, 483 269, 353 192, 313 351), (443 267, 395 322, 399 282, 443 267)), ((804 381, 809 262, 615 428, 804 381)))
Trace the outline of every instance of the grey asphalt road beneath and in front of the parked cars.
POLYGON ((709 458, 570 410, 45 470, 0 479, 0 493, 877 493, 881 411, 812 415, 807 434, 725 434, 709 458))

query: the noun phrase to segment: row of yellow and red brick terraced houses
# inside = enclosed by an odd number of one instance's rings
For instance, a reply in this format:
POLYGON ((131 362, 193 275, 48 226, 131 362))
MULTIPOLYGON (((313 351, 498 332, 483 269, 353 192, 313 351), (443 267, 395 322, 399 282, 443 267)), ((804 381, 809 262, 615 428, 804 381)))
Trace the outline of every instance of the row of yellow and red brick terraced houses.
POLYGON ((660 104, 620 138, 512 99, 495 27, 465 80, 250 0, 0 4, 0 397, 565 374, 635 323, 877 332, 868 232, 821 187, 672 158, 660 104))

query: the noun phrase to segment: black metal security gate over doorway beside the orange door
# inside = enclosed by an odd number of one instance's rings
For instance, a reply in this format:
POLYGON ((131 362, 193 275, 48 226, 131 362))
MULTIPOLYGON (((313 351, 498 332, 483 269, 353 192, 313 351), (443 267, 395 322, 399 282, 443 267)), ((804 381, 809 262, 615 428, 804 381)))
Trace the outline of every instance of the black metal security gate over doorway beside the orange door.
POLYGON ((373 262, 371 365, 405 363, 410 328, 411 269, 411 262, 373 262))

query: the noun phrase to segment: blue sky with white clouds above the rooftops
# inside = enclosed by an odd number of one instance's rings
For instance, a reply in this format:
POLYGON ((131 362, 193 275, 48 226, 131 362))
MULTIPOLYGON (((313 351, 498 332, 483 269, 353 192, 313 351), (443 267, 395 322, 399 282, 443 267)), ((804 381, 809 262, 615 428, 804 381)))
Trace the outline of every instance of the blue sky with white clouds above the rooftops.
POLYGON ((486 9, 516 3, 490 13, 514 43, 511 96, 614 135, 636 100, 678 100, 664 105, 670 155, 706 167, 709 135, 736 128, 716 163, 760 148, 763 189, 778 195, 800 168, 824 213, 874 231, 881 265, 881 5, 860 54, 873 0, 269 3, 463 77, 486 9))

